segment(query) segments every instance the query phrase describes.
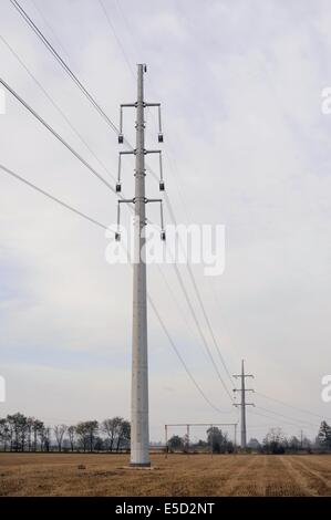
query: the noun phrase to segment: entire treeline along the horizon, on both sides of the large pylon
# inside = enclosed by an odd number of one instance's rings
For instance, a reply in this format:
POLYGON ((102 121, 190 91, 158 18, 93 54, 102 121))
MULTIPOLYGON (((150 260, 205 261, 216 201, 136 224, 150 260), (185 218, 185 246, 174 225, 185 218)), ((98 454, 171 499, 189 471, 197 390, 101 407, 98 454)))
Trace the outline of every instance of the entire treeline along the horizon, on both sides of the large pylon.
MULTIPOLYGON (((42 420, 17 413, 0 418, 2 451, 107 451, 130 450, 131 425, 122 417, 85 420, 76 425, 46 426, 42 420)), ((164 449, 164 447, 163 447, 164 449)), ((218 427, 206 431, 206 440, 192 443, 187 436, 168 439, 168 451, 231 454, 239 448, 218 427)), ((263 440, 251 438, 247 451, 261 454, 331 453, 331 426, 323 420, 314 440, 301 436, 286 437, 281 428, 271 428, 263 440)))

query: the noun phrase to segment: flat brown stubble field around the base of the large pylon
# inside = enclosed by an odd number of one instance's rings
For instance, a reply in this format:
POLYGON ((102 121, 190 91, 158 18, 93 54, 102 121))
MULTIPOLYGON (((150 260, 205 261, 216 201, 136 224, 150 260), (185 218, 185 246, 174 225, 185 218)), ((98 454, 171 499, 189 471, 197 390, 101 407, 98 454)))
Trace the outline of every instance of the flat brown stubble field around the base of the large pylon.
POLYGON ((331 496, 328 455, 0 454, 1 496, 331 496), (84 468, 79 468, 83 465, 84 468))

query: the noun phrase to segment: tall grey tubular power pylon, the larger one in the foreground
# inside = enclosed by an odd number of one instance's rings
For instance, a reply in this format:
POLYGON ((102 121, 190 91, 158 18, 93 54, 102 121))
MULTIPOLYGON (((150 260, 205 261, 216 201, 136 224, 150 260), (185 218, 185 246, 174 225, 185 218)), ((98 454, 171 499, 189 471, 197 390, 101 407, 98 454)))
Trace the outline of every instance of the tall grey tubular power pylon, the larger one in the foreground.
POLYGON ((158 107, 158 143, 163 143, 161 126, 159 103, 145 103, 144 101, 144 73, 145 64, 137 65, 137 101, 132 104, 121 105, 118 143, 124 143, 123 137, 123 108, 136 108, 136 147, 134 150, 120 152, 118 178, 116 191, 121 193, 121 158, 123 154, 135 155, 135 196, 133 199, 118 200, 116 240, 121 240, 120 207, 121 202, 134 205, 134 273, 133 273, 133 331, 132 331, 132 395, 131 395, 131 462, 133 467, 151 466, 149 460, 149 428, 148 428, 148 356, 147 356, 147 301, 146 301, 146 262, 144 257, 146 226, 145 205, 159 202, 161 205, 161 239, 165 240, 163 226, 162 199, 147 199, 145 197, 145 155, 159 155, 159 190, 164 191, 162 169, 162 152, 145 149, 145 118, 147 106, 158 107))

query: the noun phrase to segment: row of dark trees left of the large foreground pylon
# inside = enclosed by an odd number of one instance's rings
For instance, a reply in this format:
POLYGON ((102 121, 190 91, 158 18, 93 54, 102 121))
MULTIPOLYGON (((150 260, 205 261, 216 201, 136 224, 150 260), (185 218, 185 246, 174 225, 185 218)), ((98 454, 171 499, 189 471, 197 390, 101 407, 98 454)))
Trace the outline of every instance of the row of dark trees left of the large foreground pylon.
POLYGON ((17 413, 0 418, 2 451, 123 451, 130 449, 130 423, 122 417, 46 426, 17 413))

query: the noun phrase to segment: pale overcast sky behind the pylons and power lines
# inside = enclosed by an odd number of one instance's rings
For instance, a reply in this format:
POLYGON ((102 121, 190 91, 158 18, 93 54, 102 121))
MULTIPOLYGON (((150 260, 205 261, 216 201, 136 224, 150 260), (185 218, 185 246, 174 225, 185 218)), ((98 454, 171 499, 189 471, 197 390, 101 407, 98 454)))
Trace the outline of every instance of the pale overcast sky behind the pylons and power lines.
MULTIPOLYGON (((115 133, 11 2, 0 4, 1 77, 113 184, 115 133)), ((321 399, 321 378, 331 372, 331 115, 321 111, 322 90, 331 86, 330 2, 103 0, 108 20, 99 0, 21 4, 116 125, 120 104, 136 98, 136 63, 147 63, 145 96, 162 103, 164 177, 176 220, 226 229, 224 273, 193 271, 229 372, 237 374, 245 358, 255 375, 248 437, 277 425, 287 435, 302 429, 314 437, 320 417, 262 395, 331 417, 331 404, 321 399)), ((116 196, 9 93, 6 104, 0 163, 114 223, 116 196)), ((146 123, 147 145, 158 148, 153 108, 146 123)), ((124 133, 134 139, 132 112, 124 133)), ((123 163, 123 194, 132 197, 132 157, 123 163)), ((157 170, 156 157, 148 164, 157 170)), ((0 174, 0 374, 7 382, 0 416, 20 410, 50 425, 128 418, 131 267, 106 262, 101 228, 0 174)), ((158 197, 148 174, 146 189, 158 197)), ((148 216, 157 219, 151 206, 148 216)), ((227 381, 187 270, 179 269, 227 381)), ((166 423, 236 422, 174 267, 152 266, 147 283, 180 355, 220 410, 197 392, 149 309, 152 440, 163 439, 166 423)))

